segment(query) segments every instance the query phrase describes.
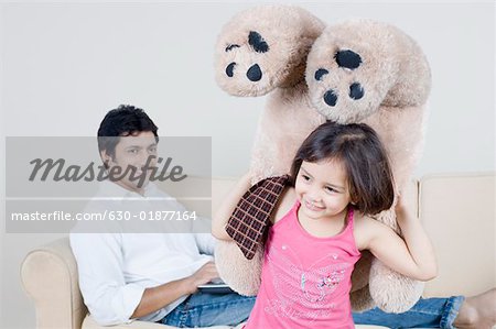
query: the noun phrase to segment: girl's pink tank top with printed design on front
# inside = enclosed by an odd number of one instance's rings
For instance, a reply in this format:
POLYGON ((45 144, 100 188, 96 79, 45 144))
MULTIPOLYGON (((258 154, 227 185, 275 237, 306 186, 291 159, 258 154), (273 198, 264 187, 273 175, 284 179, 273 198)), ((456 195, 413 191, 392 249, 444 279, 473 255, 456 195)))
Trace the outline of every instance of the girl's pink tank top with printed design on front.
POLYGON ((355 328, 349 290, 360 257, 353 235, 353 209, 345 229, 330 238, 306 232, 296 201, 269 230, 261 286, 245 328, 355 328))

